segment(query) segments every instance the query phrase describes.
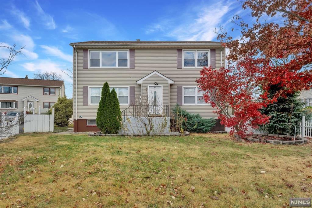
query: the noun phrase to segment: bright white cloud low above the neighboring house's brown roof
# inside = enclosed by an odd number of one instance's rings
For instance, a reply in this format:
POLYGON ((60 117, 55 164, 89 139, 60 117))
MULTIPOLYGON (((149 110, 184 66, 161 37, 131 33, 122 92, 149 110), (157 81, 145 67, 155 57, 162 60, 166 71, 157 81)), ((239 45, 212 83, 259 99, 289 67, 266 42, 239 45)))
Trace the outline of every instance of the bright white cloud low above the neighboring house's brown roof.
POLYGON ((43 60, 39 59, 35 62, 28 62, 21 65, 29 72, 56 72, 61 73, 62 78, 66 82, 72 82, 71 78, 69 78, 66 74, 62 72, 62 69, 67 68, 66 64, 59 62, 52 62, 51 60, 43 60))

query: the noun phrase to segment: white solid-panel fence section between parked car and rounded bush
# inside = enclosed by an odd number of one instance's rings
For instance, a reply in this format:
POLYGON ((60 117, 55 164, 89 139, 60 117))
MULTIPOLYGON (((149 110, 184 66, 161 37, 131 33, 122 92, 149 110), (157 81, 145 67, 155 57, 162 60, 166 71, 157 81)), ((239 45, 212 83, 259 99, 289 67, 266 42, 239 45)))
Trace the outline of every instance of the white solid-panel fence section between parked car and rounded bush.
POLYGON ((54 131, 54 108, 52 108, 51 115, 41 115, 40 106, 39 113, 26 114, 24 108, 24 132, 53 132, 54 131))

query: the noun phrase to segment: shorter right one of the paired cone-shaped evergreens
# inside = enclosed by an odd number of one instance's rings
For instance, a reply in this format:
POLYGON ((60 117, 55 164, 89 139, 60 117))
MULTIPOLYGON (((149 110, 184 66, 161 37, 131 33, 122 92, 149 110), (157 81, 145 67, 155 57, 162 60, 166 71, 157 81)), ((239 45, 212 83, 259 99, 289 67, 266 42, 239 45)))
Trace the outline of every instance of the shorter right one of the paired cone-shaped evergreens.
POLYGON ((121 111, 115 89, 107 93, 103 118, 106 133, 117 134, 121 128, 121 111))

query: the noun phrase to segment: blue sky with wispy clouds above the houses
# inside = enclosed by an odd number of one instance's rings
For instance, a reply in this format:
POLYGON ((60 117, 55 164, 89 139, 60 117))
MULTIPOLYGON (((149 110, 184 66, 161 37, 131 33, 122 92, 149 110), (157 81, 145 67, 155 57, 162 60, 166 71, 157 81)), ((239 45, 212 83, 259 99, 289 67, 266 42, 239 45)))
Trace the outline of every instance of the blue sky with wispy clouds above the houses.
MULTIPOLYGON (((25 46, 3 77, 33 77, 72 67, 71 42, 90 40, 214 41, 218 24, 242 12, 237 1, 3 1, 0 42, 25 46)), ((236 32, 237 33, 237 32, 236 32)), ((239 35, 233 34, 233 37, 239 35)), ((6 57, 0 50, 0 57, 6 57)), ((66 95, 71 79, 62 75, 66 95)))

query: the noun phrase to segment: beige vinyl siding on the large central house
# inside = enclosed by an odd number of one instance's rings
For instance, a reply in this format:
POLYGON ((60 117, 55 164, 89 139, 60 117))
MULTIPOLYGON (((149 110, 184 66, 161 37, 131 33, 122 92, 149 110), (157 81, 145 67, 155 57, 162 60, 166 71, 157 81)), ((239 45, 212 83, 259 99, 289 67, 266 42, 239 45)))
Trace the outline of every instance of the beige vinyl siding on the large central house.
MULTIPOLYGON (((86 48, 87 49, 87 48, 86 48)), ((178 48, 142 48, 135 49, 135 68, 92 68, 83 69, 83 49, 78 51, 78 87, 77 87, 77 119, 95 119, 97 106, 83 106, 82 89, 83 86, 102 86, 108 82, 110 86, 135 86, 135 97, 141 95, 141 86, 136 83, 153 71, 158 71, 164 76, 172 79, 175 83, 170 85, 168 97, 172 108, 177 103, 177 86, 196 85, 195 80, 200 77, 200 68, 177 69, 177 49, 178 48), (79 116, 81 116, 79 118, 79 116)), ((183 48, 181 48, 183 49, 183 48)), ((188 48, 189 49, 189 48, 188 48)), ((196 48, 194 48, 196 49, 196 48)), ((207 47, 209 49, 209 47, 207 47)), ((98 49, 97 49, 98 50, 98 49)), ((191 49, 190 49, 191 50, 191 49)), ((216 68, 220 68, 220 48, 216 48, 216 68)), ((222 49, 224 56, 224 49, 222 49)), ((74 52, 74 87, 73 87, 73 112, 75 117, 75 70, 76 57, 74 52)), ((222 66, 224 66, 222 58, 222 66)), ((156 75, 157 76, 157 75, 156 75)), ((155 77, 156 79, 156 77, 155 77)), ((155 81, 154 81, 155 82, 155 81)), ((152 83, 154 83, 152 82, 152 83)), ((168 82, 167 82, 168 83, 168 82)), ((163 98, 164 99, 164 98, 163 98)), ((164 103, 165 105, 165 103, 164 103)), ((216 117, 211 106, 183 106, 190 113, 200 113, 205 118, 216 117)), ((121 106, 121 111, 124 106, 121 106)))

